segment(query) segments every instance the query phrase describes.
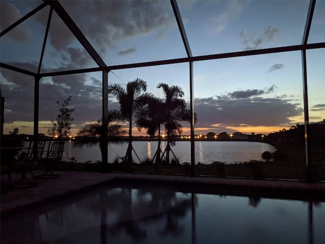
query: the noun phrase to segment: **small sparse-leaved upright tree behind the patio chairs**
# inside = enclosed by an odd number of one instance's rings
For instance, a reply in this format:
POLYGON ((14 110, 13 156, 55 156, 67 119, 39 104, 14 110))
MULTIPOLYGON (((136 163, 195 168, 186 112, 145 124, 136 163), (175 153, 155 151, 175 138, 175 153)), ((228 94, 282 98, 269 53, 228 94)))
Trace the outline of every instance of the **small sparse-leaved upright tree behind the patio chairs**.
POLYGON ((62 138, 70 134, 71 123, 74 120, 71 113, 75 110, 69 106, 70 101, 71 96, 64 100, 62 104, 59 101, 56 102, 59 107, 59 114, 56 116, 55 121, 51 120, 52 127, 47 131, 49 135, 62 138))

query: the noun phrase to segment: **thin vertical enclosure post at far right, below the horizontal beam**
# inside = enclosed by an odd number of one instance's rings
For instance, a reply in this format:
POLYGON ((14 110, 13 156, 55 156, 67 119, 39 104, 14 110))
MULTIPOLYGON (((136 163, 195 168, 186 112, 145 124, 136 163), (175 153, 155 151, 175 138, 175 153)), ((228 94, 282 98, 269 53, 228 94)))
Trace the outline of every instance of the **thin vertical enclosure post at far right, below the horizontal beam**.
POLYGON ((309 112, 308 112, 308 85, 307 85, 307 61, 306 49, 301 51, 302 54, 302 70, 303 70, 303 93, 304 93, 304 116, 305 116, 305 154, 307 168, 307 181, 312 181, 311 160, 310 160, 310 132, 309 132, 309 112))

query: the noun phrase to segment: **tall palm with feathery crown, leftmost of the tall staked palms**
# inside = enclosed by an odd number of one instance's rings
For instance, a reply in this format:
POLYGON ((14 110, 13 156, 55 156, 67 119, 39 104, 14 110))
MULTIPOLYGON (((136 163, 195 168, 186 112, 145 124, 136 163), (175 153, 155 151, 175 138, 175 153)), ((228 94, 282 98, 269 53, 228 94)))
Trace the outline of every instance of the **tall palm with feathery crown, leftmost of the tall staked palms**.
POLYGON ((141 110, 141 103, 139 102, 143 97, 150 97, 152 95, 143 92, 147 90, 147 82, 143 79, 135 79, 126 84, 126 89, 119 84, 111 84, 108 87, 108 93, 112 94, 120 104, 120 110, 112 110, 110 116, 113 119, 121 119, 128 121, 128 147, 126 150, 124 160, 128 163, 133 162, 132 159, 132 125, 137 123, 138 114, 141 110))

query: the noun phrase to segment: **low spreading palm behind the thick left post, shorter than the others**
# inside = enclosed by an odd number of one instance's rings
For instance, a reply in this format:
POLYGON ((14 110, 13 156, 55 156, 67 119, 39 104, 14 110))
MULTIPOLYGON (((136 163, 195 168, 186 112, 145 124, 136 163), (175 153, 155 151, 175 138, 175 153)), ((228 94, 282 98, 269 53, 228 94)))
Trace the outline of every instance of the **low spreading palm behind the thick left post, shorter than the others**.
MULTIPOLYGON (((75 139, 73 146, 91 147, 99 144, 101 154, 103 155, 103 148, 107 145, 104 145, 103 141, 101 140, 102 131, 102 119, 97 120, 95 123, 88 123, 78 131, 78 137, 75 139)), ((123 144, 121 136, 123 136, 125 132, 126 130, 117 123, 109 123, 107 127, 108 143, 123 144)))

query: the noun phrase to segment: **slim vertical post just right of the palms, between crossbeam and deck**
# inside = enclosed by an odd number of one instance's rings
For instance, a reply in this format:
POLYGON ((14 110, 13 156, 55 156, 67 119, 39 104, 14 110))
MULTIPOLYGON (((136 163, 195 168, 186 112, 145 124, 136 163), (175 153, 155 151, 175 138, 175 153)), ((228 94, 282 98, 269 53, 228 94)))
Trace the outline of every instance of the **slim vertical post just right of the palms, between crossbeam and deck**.
POLYGON ((189 62, 189 97, 190 97, 190 112, 191 112, 191 176, 195 176, 195 155, 194 155, 194 91, 193 91, 193 62, 189 62))

